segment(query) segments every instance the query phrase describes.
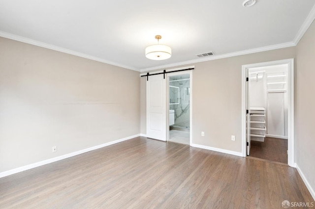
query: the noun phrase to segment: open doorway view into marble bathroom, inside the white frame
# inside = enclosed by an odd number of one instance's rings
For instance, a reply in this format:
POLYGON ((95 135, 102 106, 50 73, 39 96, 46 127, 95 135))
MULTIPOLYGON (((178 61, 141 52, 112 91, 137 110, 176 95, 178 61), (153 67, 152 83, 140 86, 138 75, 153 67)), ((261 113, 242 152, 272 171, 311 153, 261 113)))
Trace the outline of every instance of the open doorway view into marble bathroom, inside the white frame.
POLYGON ((168 76, 168 141, 190 144, 190 75, 168 76))

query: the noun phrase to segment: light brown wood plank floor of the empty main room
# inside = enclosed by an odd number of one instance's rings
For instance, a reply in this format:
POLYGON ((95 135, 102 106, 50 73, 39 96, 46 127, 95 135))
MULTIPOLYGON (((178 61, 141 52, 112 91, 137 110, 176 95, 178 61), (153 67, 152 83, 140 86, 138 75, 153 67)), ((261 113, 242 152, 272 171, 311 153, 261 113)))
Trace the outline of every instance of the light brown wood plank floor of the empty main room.
POLYGON ((314 202, 295 168, 137 137, 0 179, 0 208, 261 208, 314 202))

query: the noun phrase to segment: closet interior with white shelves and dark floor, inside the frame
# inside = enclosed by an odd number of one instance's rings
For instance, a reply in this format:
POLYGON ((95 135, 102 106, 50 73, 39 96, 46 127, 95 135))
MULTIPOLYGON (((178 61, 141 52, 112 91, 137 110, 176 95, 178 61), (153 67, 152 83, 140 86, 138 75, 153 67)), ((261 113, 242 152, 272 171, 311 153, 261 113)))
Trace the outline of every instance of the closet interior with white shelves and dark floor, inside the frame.
POLYGON ((249 69, 250 156, 287 163, 288 66, 249 69), (285 153, 285 156, 284 156, 285 153), (277 157, 277 155, 282 155, 277 157))

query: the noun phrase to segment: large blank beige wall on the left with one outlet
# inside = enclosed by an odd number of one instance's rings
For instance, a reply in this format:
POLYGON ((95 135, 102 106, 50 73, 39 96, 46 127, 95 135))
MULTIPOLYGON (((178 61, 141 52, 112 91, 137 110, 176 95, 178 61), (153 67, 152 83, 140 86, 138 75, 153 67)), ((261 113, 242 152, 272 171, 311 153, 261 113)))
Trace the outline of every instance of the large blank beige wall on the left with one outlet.
POLYGON ((139 72, 0 38, 0 172, 139 134, 139 101, 139 72))

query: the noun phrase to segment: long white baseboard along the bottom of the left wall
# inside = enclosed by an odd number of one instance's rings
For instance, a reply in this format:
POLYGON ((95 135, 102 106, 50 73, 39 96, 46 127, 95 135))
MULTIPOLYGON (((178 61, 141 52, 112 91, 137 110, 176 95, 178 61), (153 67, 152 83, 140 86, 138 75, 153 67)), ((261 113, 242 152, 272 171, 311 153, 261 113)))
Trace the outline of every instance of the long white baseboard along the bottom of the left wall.
POLYGON ((76 151, 76 152, 73 152, 73 153, 69 153, 69 154, 66 154, 66 155, 63 155, 63 156, 46 159, 46 160, 43 160, 43 161, 40 161, 40 162, 32 163, 30 165, 25 165, 25 166, 22 166, 22 167, 19 167, 19 168, 14 168, 12 170, 4 171, 4 172, 0 173, 0 178, 5 177, 5 176, 9 176, 9 175, 12 175, 12 174, 16 174, 16 173, 19 173, 19 172, 22 172, 22 171, 26 171, 26 170, 29 170, 29 169, 32 169, 32 168, 36 168, 36 167, 39 167, 39 166, 42 166, 42 165, 46 165, 46 164, 49 164, 49 163, 52 163, 52 162, 56 162, 56 161, 59 161, 59 160, 62 160, 62 159, 68 158, 68 157, 73 157, 73 156, 77 156, 77 155, 80 155, 80 154, 83 154, 83 153, 87 153, 87 152, 90 152, 92 150, 97 150, 99 148, 106 147, 106 146, 109 146, 109 145, 112 145, 112 144, 116 144, 116 143, 119 143, 119 142, 122 142, 122 141, 126 141, 126 140, 129 140, 129 139, 138 137, 138 136, 140 136, 140 134, 136 134, 136 135, 133 135, 133 136, 128 136, 128 137, 125 137, 125 138, 122 138, 122 139, 118 139, 118 140, 115 140, 115 141, 107 142, 105 144, 100 144, 100 145, 97 145, 97 146, 94 146, 94 147, 90 147, 90 148, 87 148, 87 149, 84 149, 84 150, 79 150, 79 151, 76 151))

